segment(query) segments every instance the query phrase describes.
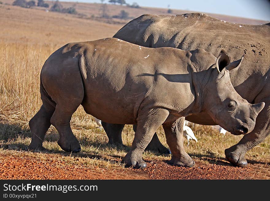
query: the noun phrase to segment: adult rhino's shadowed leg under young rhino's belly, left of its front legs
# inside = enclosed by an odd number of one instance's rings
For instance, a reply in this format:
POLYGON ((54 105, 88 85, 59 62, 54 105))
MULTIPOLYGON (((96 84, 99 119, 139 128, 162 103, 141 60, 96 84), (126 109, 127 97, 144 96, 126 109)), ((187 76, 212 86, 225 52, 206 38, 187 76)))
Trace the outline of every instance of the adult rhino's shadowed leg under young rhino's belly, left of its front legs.
POLYGON ((124 146, 122 141, 122 131, 125 124, 109 124, 104 121, 101 121, 101 124, 109 138, 108 144, 124 146))

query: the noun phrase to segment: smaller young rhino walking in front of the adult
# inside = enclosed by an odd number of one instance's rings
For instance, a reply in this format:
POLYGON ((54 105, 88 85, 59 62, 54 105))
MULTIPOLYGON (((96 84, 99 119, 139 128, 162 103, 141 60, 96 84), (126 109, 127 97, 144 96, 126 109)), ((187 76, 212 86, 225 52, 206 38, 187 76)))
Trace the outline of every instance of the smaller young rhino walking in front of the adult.
MULTIPOLYGON (((243 59, 243 58, 242 58, 243 59)), ((142 153, 160 125, 172 151, 171 163, 191 167, 183 147, 184 118, 207 112, 218 125, 240 135, 251 132, 264 103, 252 105, 234 90, 228 55, 203 49, 147 48, 115 38, 69 43, 56 50, 41 70, 42 106, 29 121, 29 148, 42 148, 52 124, 65 151, 79 152, 70 128, 82 105, 88 113, 114 124, 136 124, 127 166, 146 167, 142 153)))

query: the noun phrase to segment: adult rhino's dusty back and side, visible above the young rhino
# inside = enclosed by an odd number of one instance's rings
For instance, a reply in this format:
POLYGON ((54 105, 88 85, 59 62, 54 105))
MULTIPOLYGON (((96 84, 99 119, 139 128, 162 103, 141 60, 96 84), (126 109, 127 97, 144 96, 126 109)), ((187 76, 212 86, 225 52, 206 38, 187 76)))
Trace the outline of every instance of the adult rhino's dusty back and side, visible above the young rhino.
POLYGON ((203 48, 216 57, 225 49, 232 61, 245 55, 242 68, 231 73, 231 81, 249 102, 262 90, 263 77, 269 73, 268 24, 234 24, 203 13, 143 15, 130 21, 114 37, 146 47, 176 47, 188 51, 203 48))

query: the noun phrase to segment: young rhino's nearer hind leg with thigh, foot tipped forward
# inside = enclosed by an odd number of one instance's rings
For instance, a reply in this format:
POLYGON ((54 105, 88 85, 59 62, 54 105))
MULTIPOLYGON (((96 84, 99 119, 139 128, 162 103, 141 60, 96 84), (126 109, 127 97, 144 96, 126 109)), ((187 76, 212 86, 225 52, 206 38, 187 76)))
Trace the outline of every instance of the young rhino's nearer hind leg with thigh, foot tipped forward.
POLYGON ((57 62, 54 66, 45 66, 41 77, 47 94, 56 104, 50 121, 59 133, 57 143, 64 151, 76 153, 81 150, 81 147, 72 133, 70 121, 72 114, 83 102, 83 81, 79 66, 76 66, 78 62, 68 60, 63 63, 66 65, 63 67, 60 63, 57 71, 54 70, 57 62), (50 73, 51 71, 55 73, 50 73))

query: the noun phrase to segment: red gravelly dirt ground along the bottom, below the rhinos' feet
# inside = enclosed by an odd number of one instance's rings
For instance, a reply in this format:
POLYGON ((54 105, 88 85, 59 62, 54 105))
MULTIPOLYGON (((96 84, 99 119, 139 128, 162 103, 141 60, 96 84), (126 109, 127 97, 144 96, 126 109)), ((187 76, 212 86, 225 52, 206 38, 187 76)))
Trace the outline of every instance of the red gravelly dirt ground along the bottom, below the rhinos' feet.
POLYGON ((247 168, 196 161, 192 168, 148 161, 145 169, 105 169, 66 165, 63 161, 38 161, 29 156, 0 155, 0 179, 270 179, 269 163, 253 162, 247 168))

